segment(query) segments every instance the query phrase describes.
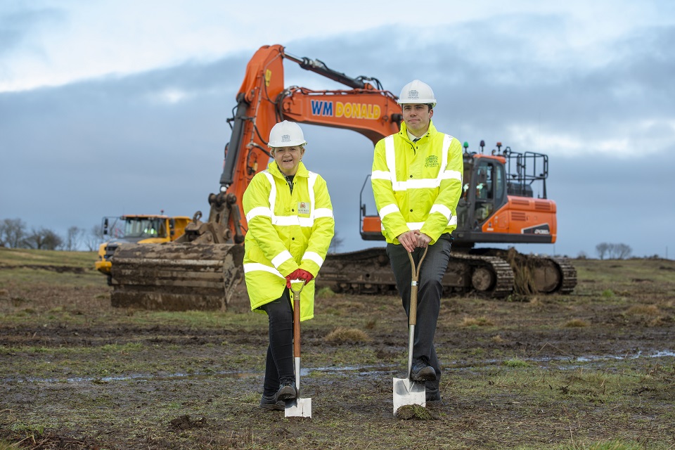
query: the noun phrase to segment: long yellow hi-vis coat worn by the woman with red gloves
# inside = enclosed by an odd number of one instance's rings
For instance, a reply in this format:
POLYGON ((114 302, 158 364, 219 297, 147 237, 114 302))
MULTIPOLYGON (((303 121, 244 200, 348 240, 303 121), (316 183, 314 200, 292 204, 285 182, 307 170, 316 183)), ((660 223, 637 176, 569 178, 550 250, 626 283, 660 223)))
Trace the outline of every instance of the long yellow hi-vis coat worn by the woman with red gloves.
MULTIPOLYGON (((281 297, 285 276, 296 269, 319 274, 335 233, 335 219, 326 181, 302 162, 293 177, 293 193, 273 161, 251 180, 243 207, 248 221, 244 274, 255 310, 281 297)), ((300 282, 293 286, 300 288, 300 282)), ((293 292, 290 295, 293 298, 293 292)), ((300 298, 300 320, 312 317, 314 280, 302 289, 300 298)))

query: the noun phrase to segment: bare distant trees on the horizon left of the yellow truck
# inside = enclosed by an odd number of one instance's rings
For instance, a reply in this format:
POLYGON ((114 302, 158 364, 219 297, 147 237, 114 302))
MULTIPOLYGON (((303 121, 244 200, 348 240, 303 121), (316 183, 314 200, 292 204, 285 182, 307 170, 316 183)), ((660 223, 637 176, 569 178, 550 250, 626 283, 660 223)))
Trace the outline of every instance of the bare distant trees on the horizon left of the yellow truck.
POLYGON ((94 225, 89 231, 71 226, 65 236, 44 226, 28 229, 21 219, 3 219, 0 221, 0 247, 33 248, 36 250, 76 251, 83 248, 90 252, 98 249, 103 242, 100 225, 94 225))

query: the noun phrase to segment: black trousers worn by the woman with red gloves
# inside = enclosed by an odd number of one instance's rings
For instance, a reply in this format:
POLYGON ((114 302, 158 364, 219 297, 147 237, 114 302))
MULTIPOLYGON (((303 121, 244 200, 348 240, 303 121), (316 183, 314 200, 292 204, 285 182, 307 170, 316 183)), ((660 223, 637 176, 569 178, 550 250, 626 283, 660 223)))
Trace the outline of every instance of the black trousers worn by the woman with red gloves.
POLYGON ((269 319, 269 345, 265 361, 263 394, 276 394, 281 383, 295 381, 293 364, 293 308, 288 288, 273 302, 260 307, 269 319))

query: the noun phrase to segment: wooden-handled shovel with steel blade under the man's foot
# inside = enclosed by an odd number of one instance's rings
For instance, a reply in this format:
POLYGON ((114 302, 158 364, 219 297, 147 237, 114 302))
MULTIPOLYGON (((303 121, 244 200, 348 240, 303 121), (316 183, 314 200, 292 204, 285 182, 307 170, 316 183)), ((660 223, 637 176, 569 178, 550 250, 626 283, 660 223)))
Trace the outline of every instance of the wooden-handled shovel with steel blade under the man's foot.
POLYGON ((408 314, 408 373, 406 378, 394 378, 394 416, 401 406, 405 405, 420 405, 426 406, 426 390, 425 383, 416 383, 410 379, 413 368, 413 341, 415 340, 415 325, 417 323, 417 282, 420 278, 420 267, 427 256, 427 250, 420 258, 420 262, 415 267, 413 261, 413 254, 408 253, 410 258, 410 269, 412 273, 412 282, 410 285, 410 314, 408 314))

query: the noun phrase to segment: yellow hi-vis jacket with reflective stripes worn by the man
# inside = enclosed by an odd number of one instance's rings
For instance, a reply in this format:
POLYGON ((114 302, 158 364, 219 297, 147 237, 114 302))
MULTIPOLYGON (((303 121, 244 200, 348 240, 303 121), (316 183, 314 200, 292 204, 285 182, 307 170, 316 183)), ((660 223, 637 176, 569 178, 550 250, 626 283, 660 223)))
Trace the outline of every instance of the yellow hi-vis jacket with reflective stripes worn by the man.
POLYGON ((429 130, 414 142, 405 122, 401 131, 380 140, 373 158, 373 195, 387 243, 419 230, 431 244, 457 228, 457 202, 462 193, 462 145, 454 137, 429 130))

